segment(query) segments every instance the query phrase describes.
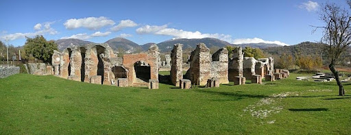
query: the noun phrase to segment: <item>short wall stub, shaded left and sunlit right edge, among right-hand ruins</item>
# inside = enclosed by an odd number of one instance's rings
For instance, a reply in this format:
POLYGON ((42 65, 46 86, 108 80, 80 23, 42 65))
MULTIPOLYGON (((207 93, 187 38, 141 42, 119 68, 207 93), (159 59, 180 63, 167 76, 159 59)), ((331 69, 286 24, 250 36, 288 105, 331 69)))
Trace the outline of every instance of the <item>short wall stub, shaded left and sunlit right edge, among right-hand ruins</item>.
POLYGON ((243 76, 246 79, 252 79, 252 75, 255 75, 256 61, 252 57, 243 59, 243 76))

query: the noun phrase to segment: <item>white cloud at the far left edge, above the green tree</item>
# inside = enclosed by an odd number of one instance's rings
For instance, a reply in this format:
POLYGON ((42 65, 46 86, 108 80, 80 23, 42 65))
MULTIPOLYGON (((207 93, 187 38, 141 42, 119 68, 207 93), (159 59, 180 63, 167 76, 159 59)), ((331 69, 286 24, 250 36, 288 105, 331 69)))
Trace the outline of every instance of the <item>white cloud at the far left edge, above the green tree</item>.
POLYGON ((25 38, 26 36, 33 37, 36 35, 45 35, 45 34, 55 35, 55 34, 58 34, 58 32, 50 26, 52 23, 54 23, 54 22, 43 23, 44 29, 41 28, 42 24, 38 23, 38 24, 34 25, 34 29, 37 30, 36 32, 7 34, 4 36, 1 36, 1 39, 6 40, 6 38, 8 38, 8 40, 16 40, 19 38, 25 38))

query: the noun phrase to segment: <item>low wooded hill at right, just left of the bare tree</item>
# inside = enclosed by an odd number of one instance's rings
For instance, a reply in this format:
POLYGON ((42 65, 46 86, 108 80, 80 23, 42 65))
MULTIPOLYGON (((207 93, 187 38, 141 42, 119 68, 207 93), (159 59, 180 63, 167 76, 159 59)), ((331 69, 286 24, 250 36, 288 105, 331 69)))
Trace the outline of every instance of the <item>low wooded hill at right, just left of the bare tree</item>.
POLYGON ((324 45, 316 42, 301 42, 298 45, 267 47, 262 50, 275 56, 281 56, 283 53, 295 56, 298 53, 301 55, 322 55, 323 48, 324 45))

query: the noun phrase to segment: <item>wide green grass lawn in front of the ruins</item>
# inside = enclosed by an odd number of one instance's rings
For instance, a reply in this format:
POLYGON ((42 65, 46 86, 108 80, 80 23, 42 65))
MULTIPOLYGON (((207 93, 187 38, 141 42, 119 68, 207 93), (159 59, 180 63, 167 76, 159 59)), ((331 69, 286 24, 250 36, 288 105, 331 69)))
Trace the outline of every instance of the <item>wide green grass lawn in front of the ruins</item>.
POLYGON ((0 134, 350 134, 351 83, 287 79, 181 90, 0 79, 0 134))

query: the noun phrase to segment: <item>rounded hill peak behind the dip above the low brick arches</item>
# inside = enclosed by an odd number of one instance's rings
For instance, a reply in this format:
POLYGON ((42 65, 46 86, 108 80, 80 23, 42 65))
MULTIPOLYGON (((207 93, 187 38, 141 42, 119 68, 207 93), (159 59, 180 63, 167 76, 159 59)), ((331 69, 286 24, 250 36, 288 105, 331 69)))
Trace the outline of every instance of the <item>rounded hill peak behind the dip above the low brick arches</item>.
POLYGON ((114 50, 117 50, 118 48, 123 48, 125 53, 133 53, 138 49, 142 50, 141 46, 125 38, 112 38, 106 41, 105 43, 110 45, 110 47, 114 50))

